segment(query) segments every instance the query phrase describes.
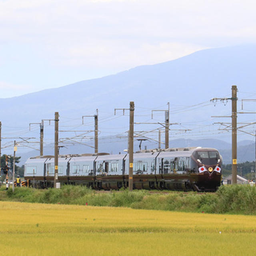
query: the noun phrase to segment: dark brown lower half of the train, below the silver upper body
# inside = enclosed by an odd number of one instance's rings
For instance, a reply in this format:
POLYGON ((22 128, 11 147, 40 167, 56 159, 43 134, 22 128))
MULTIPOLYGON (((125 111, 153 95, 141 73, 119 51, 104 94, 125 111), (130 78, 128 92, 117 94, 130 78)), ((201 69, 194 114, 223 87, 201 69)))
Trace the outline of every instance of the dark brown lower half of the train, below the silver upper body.
MULTIPOLYGON (((53 188, 54 177, 28 176, 24 186, 35 188, 53 188)), ((59 176, 60 184, 82 185, 96 190, 119 190, 128 188, 128 175, 125 176, 59 176)), ((220 186, 221 175, 214 174, 158 174, 134 175, 133 189, 146 190, 194 190, 198 192, 214 192, 220 186)))

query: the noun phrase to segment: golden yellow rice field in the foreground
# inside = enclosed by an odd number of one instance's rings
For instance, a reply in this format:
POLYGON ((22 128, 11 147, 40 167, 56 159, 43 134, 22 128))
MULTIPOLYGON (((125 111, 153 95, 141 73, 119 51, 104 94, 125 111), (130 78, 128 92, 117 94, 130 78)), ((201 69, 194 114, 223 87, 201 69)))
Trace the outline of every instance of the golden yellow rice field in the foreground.
POLYGON ((254 255, 256 217, 0 202, 0 255, 254 255))

